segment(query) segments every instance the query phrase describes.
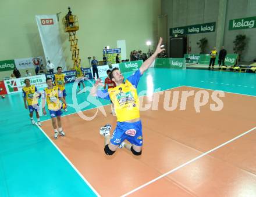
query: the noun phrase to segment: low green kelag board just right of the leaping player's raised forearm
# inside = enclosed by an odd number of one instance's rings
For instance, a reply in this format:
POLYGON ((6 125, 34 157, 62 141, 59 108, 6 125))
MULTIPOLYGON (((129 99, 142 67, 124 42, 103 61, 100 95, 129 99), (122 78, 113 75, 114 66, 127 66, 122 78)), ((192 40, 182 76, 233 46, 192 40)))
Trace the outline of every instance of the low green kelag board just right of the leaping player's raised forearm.
POLYGON ((184 58, 157 58, 155 68, 186 69, 186 62, 184 58))

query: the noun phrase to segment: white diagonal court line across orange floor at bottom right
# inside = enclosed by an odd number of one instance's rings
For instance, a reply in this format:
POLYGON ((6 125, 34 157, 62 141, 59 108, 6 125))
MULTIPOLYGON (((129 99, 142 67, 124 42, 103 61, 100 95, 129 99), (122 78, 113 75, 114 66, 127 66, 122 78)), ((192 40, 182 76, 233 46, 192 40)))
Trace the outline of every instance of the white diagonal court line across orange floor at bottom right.
POLYGON ((244 132, 244 133, 240 134, 239 136, 236 136, 236 137, 232 138, 231 140, 226 141, 225 143, 223 143, 223 144, 221 144, 221 145, 218 145, 218 147, 212 148, 211 150, 209 150, 209 151, 207 151, 207 152, 204 152, 203 154, 197 156, 196 158, 191 159, 191 160, 189 160, 188 162, 183 163, 182 165, 175 167, 175 169, 172 169, 172 170, 170 170, 169 172, 166 172, 165 174, 162 174, 161 176, 159 176, 159 177, 157 177, 157 178, 154 178, 154 179, 151 180, 151 181, 148 181, 148 183, 145 183, 145 184, 141 185, 140 187, 137 187, 137 188, 131 190, 130 192, 127 192, 126 194, 122 195, 121 197, 128 196, 128 195, 130 195, 130 194, 133 194, 134 192, 138 191, 139 189, 144 188, 144 187, 146 187, 147 185, 150 185, 151 183, 154 183, 155 181, 157 181, 157 180, 159 180, 159 179, 161 179, 161 178, 163 178, 163 177, 165 177, 165 176, 168 176, 169 174, 171 174, 171 173, 173 173, 173 172, 179 170, 180 168, 182 168, 182 167, 184 167, 184 166, 186 166, 186 165, 189 165, 190 163, 194 162, 195 160, 200 159, 200 158, 202 158, 203 156, 205 156, 205 155, 207 155, 207 154, 209 154, 209 153, 215 151, 216 149, 221 148, 221 147, 223 147, 224 145, 229 144, 229 143, 231 143, 232 141, 237 140, 238 138, 240 138, 240 137, 242 137, 242 136, 244 136, 244 135, 246 135, 246 134, 252 132, 254 129, 256 129, 256 127, 253 127, 253 129, 250 129, 250 130, 248 130, 247 132, 244 132))

